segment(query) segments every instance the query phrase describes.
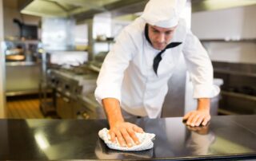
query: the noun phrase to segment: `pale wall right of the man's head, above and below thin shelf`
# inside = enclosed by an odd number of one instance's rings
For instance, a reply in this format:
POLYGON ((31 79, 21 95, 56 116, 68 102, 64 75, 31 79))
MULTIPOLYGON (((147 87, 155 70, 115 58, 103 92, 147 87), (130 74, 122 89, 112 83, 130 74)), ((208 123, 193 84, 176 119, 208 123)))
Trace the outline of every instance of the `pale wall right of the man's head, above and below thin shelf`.
POLYGON ((256 5, 198 12, 192 14, 191 29, 201 40, 223 40, 203 43, 212 61, 256 64, 255 16, 256 5))

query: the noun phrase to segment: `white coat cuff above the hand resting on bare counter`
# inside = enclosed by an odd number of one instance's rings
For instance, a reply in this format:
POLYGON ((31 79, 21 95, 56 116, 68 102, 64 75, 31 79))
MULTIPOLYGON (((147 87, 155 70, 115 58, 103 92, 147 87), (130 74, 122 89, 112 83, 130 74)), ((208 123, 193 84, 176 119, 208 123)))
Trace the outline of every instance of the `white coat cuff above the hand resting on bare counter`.
POLYGON ((214 84, 198 84, 194 86, 193 97, 196 98, 213 98, 218 96, 220 88, 214 84))

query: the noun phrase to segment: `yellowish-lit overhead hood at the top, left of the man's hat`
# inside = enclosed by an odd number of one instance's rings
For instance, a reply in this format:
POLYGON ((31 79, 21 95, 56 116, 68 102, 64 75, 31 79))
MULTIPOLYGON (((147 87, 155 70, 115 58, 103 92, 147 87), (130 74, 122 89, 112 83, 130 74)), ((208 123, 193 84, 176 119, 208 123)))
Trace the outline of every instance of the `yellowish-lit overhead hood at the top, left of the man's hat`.
MULTIPOLYGON (((104 11, 118 10, 123 6, 146 4, 148 0, 30 0, 22 14, 33 14, 40 17, 74 17, 90 18, 104 11)), ((134 8, 134 7, 133 7, 134 8)), ((142 7, 140 7, 141 10, 142 7)), ((124 10, 125 11, 125 10, 124 10)), ((133 10, 131 10, 133 11, 133 10)))

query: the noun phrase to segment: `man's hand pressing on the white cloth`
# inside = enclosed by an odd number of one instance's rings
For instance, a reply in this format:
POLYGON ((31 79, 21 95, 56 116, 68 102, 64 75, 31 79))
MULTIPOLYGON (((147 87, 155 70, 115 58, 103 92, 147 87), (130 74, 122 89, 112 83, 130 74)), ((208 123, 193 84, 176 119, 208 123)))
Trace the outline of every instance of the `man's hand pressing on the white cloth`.
POLYGON ((143 133, 142 128, 139 128, 135 124, 119 121, 114 124, 110 124, 110 139, 113 143, 118 139, 118 143, 122 147, 132 147, 133 144, 139 144, 139 139, 135 132, 143 133))

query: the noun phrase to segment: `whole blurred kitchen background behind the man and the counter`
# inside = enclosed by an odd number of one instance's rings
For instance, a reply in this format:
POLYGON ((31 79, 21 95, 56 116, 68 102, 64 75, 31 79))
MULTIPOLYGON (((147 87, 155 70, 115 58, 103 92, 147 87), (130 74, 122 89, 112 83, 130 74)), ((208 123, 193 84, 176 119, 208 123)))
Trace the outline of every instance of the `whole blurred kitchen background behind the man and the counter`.
MULTIPOLYGON (((102 119, 102 61, 148 0, 1 0, 0 117, 102 119)), ((159 0, 161 2, 161 0, 159 0)), ((256 1, 190 0, 182 14, 214 65, 212 115, 256 113, 256 1)), ((186 65, 169 81, 162 116, 196 107, 186 65)))

